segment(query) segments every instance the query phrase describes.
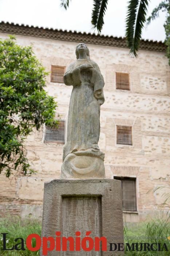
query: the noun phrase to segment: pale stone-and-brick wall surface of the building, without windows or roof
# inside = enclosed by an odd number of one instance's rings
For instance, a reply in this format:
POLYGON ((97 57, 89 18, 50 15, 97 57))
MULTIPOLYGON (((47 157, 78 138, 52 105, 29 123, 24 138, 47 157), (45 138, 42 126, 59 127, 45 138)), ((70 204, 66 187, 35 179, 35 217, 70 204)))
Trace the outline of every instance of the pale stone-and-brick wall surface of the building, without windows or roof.
MULTIPOLYGON (((1 38, 7 34, 0 33, 1 38)), ((68 66, 75 60, 74 42, 17 35, 20 45, 32 45, 38 59, 50 72, 51 65, 68 66)), ((106 177, 137 178, 136 213, 124 213, 127 221, 139 221, 163 206, 157 186, 169 186, 170 175, 170 71, 165 53, 140 50, 138 58, 129 50, 88 45, 90 57, 98 63, 105 80, 105 102, 101 106, 99 147, 105 153, 106 177), (116 90, 115 72, 128 72, 130 91, 116 90), (116 145, 116 125, 133 127, 133 146, 116 145), (149 192, 150 191, 150 192, 149 192)), ((46 90, 56 97, 66 120, 72 86, 51 83, 46 90)), ((37 171, 32 177, 8 180, 0 177, 0 210, 11 214, 41 217, 44 181, 59 178, 63 144, 44 143, 43 128, 27 139, 28 158, 37 171), (11 183, 10 183, 11 182, 11 183)), ((170 190, 170 189, 169 189, 170 190)), ((166 192, 169 190, 166 189, 166 192)), ((168 204, 163 206, 166 211, 168 204)))

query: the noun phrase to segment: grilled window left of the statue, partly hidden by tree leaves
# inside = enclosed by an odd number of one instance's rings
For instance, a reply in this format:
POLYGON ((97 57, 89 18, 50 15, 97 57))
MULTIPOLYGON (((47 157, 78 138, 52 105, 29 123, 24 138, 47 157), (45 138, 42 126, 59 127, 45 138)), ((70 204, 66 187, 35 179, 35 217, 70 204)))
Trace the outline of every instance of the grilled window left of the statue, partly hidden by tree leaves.
POLYGON ((45 141, 60 141, 64 142, 65 121, 60 121, 58 128, 46 127, 45 141))

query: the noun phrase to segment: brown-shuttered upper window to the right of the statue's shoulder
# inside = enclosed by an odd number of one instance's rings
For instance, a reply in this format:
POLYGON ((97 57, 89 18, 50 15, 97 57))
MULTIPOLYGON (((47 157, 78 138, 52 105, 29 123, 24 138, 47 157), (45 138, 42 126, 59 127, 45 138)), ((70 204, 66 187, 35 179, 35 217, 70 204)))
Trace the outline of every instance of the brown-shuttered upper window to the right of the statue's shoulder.
POLYGON ((130 90, 129 74, 116 72, 116 89, 130 90))

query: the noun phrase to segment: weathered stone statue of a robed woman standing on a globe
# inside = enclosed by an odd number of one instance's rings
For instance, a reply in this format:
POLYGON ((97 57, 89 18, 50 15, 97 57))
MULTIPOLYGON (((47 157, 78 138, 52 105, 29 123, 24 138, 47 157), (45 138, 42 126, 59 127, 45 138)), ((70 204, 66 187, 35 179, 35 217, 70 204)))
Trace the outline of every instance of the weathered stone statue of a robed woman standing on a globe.
POLYGON ((104 79, 85 44, 76 46, 76 58, 64 74, 64 83, 73 89, 61 178, 105 178, 104 153, 98 146, 104 79))

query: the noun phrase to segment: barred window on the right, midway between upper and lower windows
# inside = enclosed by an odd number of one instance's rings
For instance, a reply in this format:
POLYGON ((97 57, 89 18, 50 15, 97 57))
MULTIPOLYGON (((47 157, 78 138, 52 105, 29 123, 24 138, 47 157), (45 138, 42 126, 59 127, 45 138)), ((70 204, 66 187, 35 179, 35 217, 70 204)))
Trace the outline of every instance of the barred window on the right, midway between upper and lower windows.
POLYGON ((117 144, 132 145, 132 127, 117 125, 117 144))

